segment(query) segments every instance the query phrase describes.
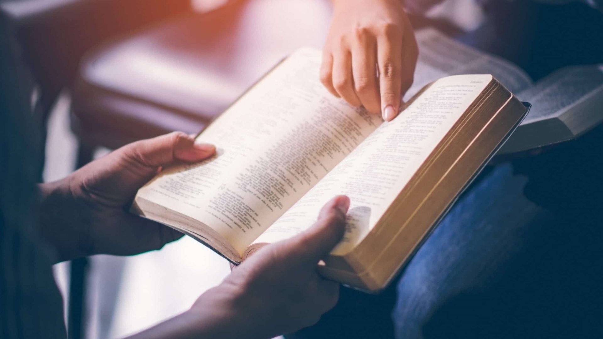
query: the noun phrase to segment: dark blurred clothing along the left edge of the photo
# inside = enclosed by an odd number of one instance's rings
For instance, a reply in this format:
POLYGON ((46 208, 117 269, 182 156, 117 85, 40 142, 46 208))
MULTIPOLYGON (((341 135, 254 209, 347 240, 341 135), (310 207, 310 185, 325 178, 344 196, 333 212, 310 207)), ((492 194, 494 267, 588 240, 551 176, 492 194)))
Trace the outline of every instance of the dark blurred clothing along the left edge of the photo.
POLYGON ((0 338, 65 338, 54 253, 36 230, 40 133, 21 60, 0 17, 0 338))

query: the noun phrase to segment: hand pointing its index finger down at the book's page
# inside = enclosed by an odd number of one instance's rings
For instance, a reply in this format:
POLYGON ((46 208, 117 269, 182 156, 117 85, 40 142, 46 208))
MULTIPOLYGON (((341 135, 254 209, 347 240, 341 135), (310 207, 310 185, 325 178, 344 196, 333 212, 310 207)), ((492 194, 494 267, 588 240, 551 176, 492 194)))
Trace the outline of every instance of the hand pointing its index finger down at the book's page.
POLYGON ((320 80, 336 97, 391 121, 412 85, 417 55, 402 1, 333 0, 320 80))

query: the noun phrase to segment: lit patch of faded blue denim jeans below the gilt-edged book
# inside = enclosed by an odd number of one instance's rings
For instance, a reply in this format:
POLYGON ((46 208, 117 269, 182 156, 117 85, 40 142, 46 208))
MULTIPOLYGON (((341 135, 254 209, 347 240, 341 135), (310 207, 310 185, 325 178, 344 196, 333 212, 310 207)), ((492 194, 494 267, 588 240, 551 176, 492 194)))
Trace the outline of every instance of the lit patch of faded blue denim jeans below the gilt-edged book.
POLYGON ((499 165, 455 204, 399 281, 393 312, 398 337, 422 337, 434 312, 449 299, 488 288, 488 279, 521 252, 526 237, 541 231, 549 215, 523 197, 526 181, 513 175, 510 164, 499 165))

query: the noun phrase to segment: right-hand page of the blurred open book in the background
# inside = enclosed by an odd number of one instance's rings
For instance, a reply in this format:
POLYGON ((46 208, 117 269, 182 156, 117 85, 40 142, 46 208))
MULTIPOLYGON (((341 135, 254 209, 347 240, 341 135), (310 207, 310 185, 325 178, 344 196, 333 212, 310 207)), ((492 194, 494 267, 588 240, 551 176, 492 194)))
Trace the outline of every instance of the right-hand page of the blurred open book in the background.
MULTIPOLYGON (((559 116, 572 106, 601 95, 602 90, 603 65, 561 68, 534 87, 517 93, 517 98, 532 104, 522 125, 559 116)), ((595 113, 601 115, 601 112, 595 113)))

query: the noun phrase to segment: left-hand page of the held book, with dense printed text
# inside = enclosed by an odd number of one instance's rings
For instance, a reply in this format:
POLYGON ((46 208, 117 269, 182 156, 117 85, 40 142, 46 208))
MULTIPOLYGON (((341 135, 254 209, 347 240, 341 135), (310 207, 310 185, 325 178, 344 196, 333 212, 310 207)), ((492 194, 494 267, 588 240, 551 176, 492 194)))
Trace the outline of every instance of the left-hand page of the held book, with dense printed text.
POLYGON ((167 170, 139 196, 194 218, 240 254, 382 120, 330 95, 321 52, 300 49, 213 122, 206 162, 167 170))

